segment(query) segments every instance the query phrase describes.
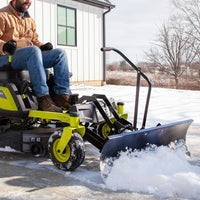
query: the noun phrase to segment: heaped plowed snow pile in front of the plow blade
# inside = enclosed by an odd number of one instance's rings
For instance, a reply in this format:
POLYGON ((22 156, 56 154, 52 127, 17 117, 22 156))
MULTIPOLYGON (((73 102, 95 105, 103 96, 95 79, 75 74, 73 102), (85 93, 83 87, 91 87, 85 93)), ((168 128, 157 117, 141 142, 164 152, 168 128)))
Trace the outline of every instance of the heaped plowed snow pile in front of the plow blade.
POLYGON ((106 187, 154 196, 199 199, 200 167, 191 165, 183 147, 121 153, 105 179, 106 187))

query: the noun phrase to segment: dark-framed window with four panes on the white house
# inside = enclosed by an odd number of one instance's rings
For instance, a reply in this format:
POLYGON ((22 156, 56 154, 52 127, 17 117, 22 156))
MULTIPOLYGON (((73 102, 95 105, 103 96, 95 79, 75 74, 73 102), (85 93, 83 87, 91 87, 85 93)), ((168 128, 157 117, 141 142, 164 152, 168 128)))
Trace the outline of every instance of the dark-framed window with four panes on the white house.
POLYGON ((76 10, 58 6, 58 44, 76 46, 76 10))

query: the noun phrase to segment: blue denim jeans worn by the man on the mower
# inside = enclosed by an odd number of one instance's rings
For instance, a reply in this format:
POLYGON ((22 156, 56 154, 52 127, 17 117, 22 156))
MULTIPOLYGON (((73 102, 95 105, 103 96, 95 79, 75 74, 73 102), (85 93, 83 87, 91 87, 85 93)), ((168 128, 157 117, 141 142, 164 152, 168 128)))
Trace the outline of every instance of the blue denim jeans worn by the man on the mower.
MULTIPOLYGON (((8 63, 8 55, 0 55, 0 66, 8 63)), ((37 46, 17 49, 12 56, 14 70, 28 70, 33 90, 37 97, 49 94, 46 84, 46 68, 54 71, 54 91, 56 94, 69 94, 69 69, 67 56, 62 49, 41 51, 37 46)))

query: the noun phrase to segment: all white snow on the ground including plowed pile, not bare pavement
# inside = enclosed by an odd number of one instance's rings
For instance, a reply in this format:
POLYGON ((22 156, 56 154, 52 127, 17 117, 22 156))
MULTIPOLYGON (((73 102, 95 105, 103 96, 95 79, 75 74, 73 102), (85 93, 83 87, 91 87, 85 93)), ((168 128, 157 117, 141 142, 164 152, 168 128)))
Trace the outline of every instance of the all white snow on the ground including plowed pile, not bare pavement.
MULTIPOLYGON (((82 95, 105 94, 109 98, 125 103, 125 112, 129 114, 129 120, 133 121, 135 87, 133 86, 114 86, 106 85, 102 87, 92 87, 85 85, 73 85, 72 93, 82 95)), ((144 109, 147 88, 140 90, 141 98, 139 104, 138 127, 140 128, 144 109)), ((103 182, 99 167, 92 165, 87 160, 87 166, 81 165, 74 172, 63 172, 56 169, 50 161, 37 163, 33 160, 14 160, 7 161, 12 166, 25 167, 31 170, 50 171, 60 174, 66 178, 76 180, 78 183, 90 185, 102 192, 102 199, 116 199, 115 192, 126 194, 126 199, 137 199, 137 194, 144 195, 145 199, 151 197, 159 199, 191 199, 198 200, 200 197, 200 91, 172 90, 154 88, 151 94, 149 112, 147 118, 147 128, 155 126, 157 123, 166 124, 186 119, 193 119, 194 122, 187 134, 187 146, 191 152, 191 157, 185 155, 185 147, 181 144, 173 148, 154 147, 143 151, 121 153, 119 159, 115 160, 110 174, 103 182), (108 196, 105 191, 111 191, 108 196), (128 198, 128 194, 133 194, 128 198)), ((9 147, 1 148, 0 151, 10 151, 9 147)), ((14 151, 14 150, 12 150, 14 151)), ((100 156, 98 150, 86 142, 86 157, 93 156, 91 159, 97 159, 100 156)), ((0 161, 5 163, 6 161, 0 161)), ((97 159, 98 162, 98 159, 97 159)), ((102 169, 103 170, 103 169, 102 169)), ((43 178, 45 182, 47 178, 43 178)), ((43 183, 44 184, 44 183, 43 183)), ((2 186, 1 186, 2 187, 2 186)), ((48 187, 48 186, 47 186, 48 187)), ((97 199, 92 190, 81 187, 81 184, 70 186, 72 191, 87 193, 87 196, 76 198, 97 199), (73 189, 74 188, 74 189, 73 189)), ((100 193, 101 194, 101 193, 100 193)), ((0 197, 7 197, 7 193, 0 191, 0 197)), ((17 196, 24 196, 24 191, 19 190, 16 194, 9 193, 9 199, 15 199, 17 196)), ((51 194, 45 194, 40 198, 32 199, 52 199, 51 194), (46 195, 46 196, 45 196, 46 195)), ((55 194, 56 195, 56 194, 55 194)), ((27 196, 24 198, 27 199, 27 196)), ((100 198, 98 198, 100 199, 100 198)), ((119 198, 118 198, 119 199, 119 198)), ((143 198, 140 198, 143 199, 143 198)))

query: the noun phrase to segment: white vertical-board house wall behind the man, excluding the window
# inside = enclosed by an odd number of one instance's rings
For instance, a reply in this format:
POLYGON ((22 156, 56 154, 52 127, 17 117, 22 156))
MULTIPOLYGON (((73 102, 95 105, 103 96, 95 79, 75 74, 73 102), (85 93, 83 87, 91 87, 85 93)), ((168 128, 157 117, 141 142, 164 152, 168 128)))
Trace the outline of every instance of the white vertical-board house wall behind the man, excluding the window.
MULTIPOLYGON (((0 0, 0 7, 9 0, 0 0)), ((103 84, 102 17, 103 9, 72 0, 34 0, 29 13, 36 21, 41 42, 51 41, 54 47, 64 48, 73 73, 71 83, 103 84), (57 45, 57 4, 76 9, 77 46, 57 45)))

